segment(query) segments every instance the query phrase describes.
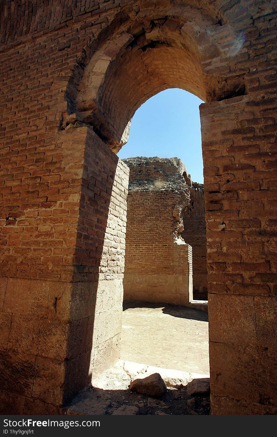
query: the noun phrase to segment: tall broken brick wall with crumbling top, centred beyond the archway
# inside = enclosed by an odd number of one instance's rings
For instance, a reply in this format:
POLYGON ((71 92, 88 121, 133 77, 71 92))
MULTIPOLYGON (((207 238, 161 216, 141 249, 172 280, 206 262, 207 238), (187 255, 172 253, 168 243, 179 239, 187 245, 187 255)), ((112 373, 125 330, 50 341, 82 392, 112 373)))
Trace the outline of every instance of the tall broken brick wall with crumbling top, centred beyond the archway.
POLYGON ((187 305, 191 248, 180 238, 189 190, 177 158, 128 158, 124 298, 187 305))

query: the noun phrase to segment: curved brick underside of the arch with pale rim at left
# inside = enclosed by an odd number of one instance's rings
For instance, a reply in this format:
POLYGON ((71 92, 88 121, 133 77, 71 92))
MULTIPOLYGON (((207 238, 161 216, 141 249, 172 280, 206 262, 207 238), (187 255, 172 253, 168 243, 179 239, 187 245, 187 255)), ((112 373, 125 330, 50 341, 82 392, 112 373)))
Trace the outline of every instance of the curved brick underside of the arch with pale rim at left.
POLYGON ((206 98, 199 56, 169 39, 140 41, 138 46, 133 35, 124 33, 107 44, 95 55, 89 78, 84 74, 80 83, 76 102, 80 118, 92 124, 115 152, 128 140, 135 111, 154 94, 183 88, 206 98), (120 51, 118 42, 123 44, 120 51), (117 53, 110 60, 113 50, 117 53))

